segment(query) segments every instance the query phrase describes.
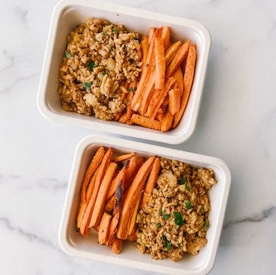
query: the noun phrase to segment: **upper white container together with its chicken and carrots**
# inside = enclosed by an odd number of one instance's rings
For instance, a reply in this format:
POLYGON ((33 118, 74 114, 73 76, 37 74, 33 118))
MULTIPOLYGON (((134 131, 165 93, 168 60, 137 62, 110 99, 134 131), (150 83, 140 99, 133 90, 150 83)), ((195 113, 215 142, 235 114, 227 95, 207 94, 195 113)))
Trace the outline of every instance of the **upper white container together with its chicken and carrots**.
POLYGON ((196 21, 61 1, 52 17, 39 110, 93 130, 184 142, 195 130, 209 50, 210 35, 196 21))

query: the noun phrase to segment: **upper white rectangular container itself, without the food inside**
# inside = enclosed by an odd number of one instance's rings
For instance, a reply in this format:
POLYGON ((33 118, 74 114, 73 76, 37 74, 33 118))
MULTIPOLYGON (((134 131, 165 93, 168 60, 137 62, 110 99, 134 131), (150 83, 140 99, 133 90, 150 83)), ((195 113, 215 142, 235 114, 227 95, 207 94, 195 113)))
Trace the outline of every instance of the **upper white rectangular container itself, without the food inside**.
POLYGON ((43 62, 37 105, 43 116, 52 121, 77 125, 92 130, 121 134, 139 139, 163 143, 183 143, 195 131, 199 105, 204 88, 210 34, 201 23, 190 19, 171 17, 145 10, 137 10, 92 0, 65 0, 55 7, 50 24, 46 54, 43 62), (197 44, 195 79, 184 116, 174 130, 160 132, 139 125, 127 125, 115 121, 101 121, 94 116, 66 112, 61 108, 57 92, 59 65, 66 48, 66 38, 78 24, 88 17, 103 18, 115 24, 124 24, 127 30, 148 34, 150 27, 169 26, 172 41, 192 39, 197 44))

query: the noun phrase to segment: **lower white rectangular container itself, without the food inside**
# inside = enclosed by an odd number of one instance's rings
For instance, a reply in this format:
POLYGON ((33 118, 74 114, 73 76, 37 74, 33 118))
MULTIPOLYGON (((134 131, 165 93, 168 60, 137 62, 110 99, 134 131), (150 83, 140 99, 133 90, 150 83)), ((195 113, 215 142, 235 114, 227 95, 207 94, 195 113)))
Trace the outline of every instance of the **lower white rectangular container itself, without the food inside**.
POLYGON ((75 152, 66 202, 59 228, 59 243, 67 254, 95 261, 174 275, 207 274, 215 263, 229 188, 230 172, 226 164, 220 159, 110 136, 88 136, 79 143, 75 152), (96 232, 91 232, 88 238, 84 238, 77 232, 76 219, 83 176, 92 156, 100 145, 113 147, 115 155, 137 152, 141 156, 163 156, 168 159, 183 161, 196 167, 210 167, 215 171, 217 184, 208 192, 211 205, 209 214, 210 227, 206 234, 208 243, 197 256, 185 255, 176 263, 171 259, 156 261, 152 260, 148 254, 140 254, 135 243, 131 243, 130 241, 124 241, 121 254, 116 255, 111 252, 110 248, 97 243, 96 232))

